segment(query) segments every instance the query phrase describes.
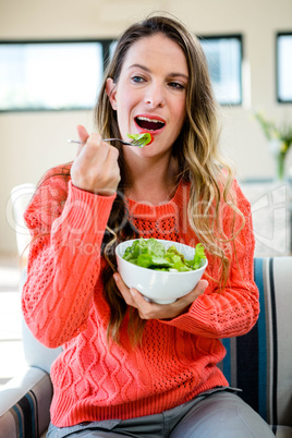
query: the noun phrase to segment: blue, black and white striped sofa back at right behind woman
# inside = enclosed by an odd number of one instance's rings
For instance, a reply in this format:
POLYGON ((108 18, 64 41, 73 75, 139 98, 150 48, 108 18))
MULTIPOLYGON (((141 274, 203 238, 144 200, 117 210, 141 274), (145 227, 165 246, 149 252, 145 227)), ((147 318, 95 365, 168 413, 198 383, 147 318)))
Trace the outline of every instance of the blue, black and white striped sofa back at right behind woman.
POLYGON ((292 257, 256 258, 254 266, 259 318, 247 334, 223 340, 222 370, 268 424, 292 426, 292 257))

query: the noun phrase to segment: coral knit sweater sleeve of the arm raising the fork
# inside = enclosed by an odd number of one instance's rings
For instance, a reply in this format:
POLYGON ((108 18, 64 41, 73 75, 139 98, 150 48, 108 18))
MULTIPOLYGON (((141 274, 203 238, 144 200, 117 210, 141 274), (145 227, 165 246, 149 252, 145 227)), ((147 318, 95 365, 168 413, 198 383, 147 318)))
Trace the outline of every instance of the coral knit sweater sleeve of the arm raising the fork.
POLYGON ((25 212, 33 240, 22 309, 47 346, 62 345, 86 328, 113 199, 56 177, 39 186, 25 212))

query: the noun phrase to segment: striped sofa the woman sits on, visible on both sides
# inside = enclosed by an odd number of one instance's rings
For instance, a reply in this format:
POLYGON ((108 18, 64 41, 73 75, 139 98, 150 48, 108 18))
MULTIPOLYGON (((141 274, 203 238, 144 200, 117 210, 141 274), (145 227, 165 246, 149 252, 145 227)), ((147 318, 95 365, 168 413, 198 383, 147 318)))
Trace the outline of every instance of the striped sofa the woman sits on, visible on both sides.
MULTIPOLYGON (((220 367, 232 387, 270 425, 292 437, 292 257, 255 258, 260 315, 245 336, 222 340, 220 367)), ((44 438, 52 398, 50 365, 61 349, 37 342, 23 323, 27 367, 0 392, 0 438, 44 438)), ((236 438, 236 437, 234 437, 236 438)))

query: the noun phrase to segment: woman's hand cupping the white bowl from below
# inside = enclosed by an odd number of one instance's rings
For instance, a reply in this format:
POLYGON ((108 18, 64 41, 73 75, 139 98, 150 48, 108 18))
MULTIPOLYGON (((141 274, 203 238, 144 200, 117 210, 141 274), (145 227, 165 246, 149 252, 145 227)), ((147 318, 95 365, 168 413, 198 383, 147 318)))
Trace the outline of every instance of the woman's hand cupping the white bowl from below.
POLYGON ((173 303, 157 304, 145 300, 136 289, 129 289, 118 272, 114 273, 113 278, 126 304, 136 307, 142 319, 172 319, 186 313, 190 305, 205 292, 208 285, 207 280, 199 280, 190 293, 173 303))

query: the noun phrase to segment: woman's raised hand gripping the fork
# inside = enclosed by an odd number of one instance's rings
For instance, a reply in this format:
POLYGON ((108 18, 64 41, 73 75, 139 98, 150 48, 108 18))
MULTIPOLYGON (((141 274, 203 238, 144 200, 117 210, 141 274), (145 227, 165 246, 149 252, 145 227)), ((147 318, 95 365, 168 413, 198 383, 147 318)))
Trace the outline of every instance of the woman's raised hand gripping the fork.
POLYGON ((82 125, 77 126, 81 142, 71 168, 73 185, 102 196, 112 195, 120 182, 118 165, 119 150, 102 142, 99 134, 88 134, 82 125))

